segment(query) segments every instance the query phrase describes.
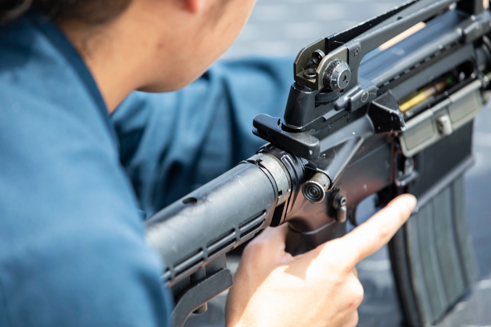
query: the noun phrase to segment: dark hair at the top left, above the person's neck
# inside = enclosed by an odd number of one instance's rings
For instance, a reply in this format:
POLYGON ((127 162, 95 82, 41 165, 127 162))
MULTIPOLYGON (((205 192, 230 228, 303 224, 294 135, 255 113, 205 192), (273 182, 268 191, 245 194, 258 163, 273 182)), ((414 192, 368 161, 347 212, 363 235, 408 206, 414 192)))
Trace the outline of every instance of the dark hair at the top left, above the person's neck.
POLYGON ((97 25, 121 14, 132 0, 0 0, 0 23, 6 24, 35 7, 53 19, 97 25))

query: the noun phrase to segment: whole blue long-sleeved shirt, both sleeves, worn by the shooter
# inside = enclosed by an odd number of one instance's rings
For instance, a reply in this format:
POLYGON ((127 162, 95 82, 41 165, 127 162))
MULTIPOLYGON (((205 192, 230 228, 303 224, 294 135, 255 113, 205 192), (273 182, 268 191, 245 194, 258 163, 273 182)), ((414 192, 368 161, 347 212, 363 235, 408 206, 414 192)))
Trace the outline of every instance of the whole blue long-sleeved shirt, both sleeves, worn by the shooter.
POLYGON ((163 263, 143 209, 218 176, 263 144, 291 60, 217 65, 169 94, 135 92, 109 117, 79 54, 30 14, 0 27, 0 326, 166 326, 163 263))

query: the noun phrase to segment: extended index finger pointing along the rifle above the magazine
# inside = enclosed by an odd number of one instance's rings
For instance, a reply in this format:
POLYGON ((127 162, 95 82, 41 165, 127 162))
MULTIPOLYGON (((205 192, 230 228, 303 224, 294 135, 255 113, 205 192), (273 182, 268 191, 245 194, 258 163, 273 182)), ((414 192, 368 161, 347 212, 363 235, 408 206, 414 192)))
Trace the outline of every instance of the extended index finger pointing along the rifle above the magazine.
POLYGON ((349 249, 347 258, 353 258, 353 265, 387 244, 397 230, 406 223, 416 206, 416 198, 410 194, 401 195, 390 201, 365 223, 343 236, 349 249))

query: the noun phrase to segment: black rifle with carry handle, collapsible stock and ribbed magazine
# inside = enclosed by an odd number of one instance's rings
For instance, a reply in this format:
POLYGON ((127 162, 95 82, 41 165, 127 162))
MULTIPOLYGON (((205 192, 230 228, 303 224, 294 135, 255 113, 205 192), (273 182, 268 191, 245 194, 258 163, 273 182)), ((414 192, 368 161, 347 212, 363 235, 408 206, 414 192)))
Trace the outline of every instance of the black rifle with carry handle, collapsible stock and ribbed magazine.
POLYGON ((270 143, 146 223, 174 326, 232 286, 224 254, 266 226, 288 223, 297 254, 346 233, 367 197, 402 193, 418 198, 389 243, 405 324, 440 320, 478 277, 463 174, 490 87, 490 23, 481 0, 412 0, 302 49, 283 119, 254 119, 270 143))

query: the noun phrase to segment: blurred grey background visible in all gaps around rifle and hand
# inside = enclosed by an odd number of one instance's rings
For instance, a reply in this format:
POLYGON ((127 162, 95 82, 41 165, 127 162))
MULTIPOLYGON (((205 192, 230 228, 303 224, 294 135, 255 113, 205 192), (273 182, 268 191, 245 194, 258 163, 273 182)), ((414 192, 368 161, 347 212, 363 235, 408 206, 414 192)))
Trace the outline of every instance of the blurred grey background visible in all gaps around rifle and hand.
MULTIPOLYGON (((293 58, 301 48, 313 41, 350 28, 402 2, 403 0, 258 0, 244 31, 224 57, 292 55, 293 58)), ((438 327, 491 326, 490 106, 483 108, 482 114, 476 120, 474 149, 476 165, 465 178, 466 205, 481 277, 469 294, 436 325, 438 327)), ((371 210, 370 206, 365 210, 371 210)), ((231 262, 231 266, 234 265, 231 262)), ((365 299, 359 308, 358 326, 401 326, 402 315, 397 304, 387 249, 365 259, 357 269, 365 288, 365 299)), ((223 302, 223 299, 222 296, 218 303, 223 302)), ((223 324, 220 312, 210 311, 208 323, 192 326, 223 324)))

